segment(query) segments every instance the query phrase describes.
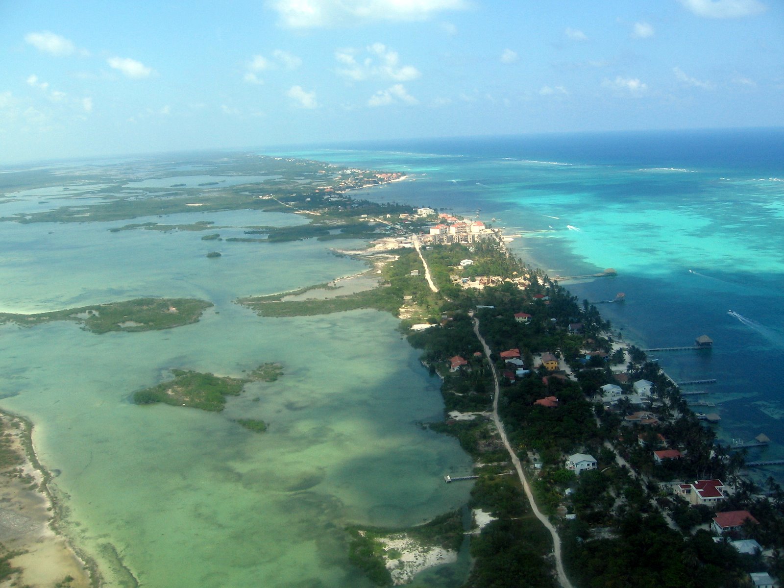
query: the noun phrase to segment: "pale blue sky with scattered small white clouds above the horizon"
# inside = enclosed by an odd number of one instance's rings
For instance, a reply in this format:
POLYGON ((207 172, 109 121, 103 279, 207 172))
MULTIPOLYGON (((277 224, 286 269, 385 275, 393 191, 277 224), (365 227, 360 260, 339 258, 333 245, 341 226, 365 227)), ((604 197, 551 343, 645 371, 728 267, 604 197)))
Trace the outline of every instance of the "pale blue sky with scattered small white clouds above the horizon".
POLYGON ((781 0, 0 0, 0 164, 781 126, 781 0))

